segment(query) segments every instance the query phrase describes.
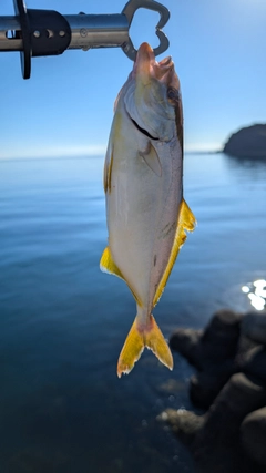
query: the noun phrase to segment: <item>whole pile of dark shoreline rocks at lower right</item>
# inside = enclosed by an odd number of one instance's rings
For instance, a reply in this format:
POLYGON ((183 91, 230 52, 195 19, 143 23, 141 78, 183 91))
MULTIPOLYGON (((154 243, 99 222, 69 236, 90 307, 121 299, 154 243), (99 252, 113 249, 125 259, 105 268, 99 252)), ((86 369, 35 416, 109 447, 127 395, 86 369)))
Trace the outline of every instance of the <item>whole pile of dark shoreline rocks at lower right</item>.
POLYGON ((265 472, 266 311, 219 310, 205 330, 177 329, 170 346, 196 368, 190 395, 205 413, 167 409, 161 420, 204 473, 265 472))

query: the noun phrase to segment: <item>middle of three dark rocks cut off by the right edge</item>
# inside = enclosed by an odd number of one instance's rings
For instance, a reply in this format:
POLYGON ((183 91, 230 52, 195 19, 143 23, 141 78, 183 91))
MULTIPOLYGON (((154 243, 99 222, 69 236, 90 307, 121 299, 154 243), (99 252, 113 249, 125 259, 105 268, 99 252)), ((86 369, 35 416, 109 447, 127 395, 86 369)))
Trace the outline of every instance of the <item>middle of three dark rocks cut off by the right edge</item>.
POLYGON ((242 356, 239 369, 266 384, 266 349, 264 346, 253 348, 242 356))

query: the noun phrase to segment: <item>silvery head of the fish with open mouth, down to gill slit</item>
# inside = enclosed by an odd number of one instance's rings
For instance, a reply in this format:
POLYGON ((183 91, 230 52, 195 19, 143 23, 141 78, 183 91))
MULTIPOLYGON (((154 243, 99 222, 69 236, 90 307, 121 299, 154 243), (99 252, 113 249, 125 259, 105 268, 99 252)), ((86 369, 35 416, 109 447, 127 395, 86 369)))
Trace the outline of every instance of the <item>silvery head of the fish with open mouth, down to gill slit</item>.
POLYGON ((152 48, 141 44, 122 95, 126 113, 140 131, 163 142, 181 140, 180 80, 171 56, 156 62, 152 48))

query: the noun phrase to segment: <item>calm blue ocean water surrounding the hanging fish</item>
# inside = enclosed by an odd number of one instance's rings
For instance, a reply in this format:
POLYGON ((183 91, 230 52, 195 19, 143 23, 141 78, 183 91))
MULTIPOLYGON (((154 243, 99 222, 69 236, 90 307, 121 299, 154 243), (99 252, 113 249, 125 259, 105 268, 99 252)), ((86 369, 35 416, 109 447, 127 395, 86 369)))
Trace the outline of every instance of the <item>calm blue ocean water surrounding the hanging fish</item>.
MULTIPOLYGON (((123 281, 102 274, 103 157, 0 161, 1 473, 194 472, 157 421, 193 409, 193 368, 146 351, 129 377, 116 361, 135 316, 123 281)), ((245 311, 244 285, 266 277, 266 161, 185 156, 197 218, 154 316, 166 337, 223 307, 245 311)))

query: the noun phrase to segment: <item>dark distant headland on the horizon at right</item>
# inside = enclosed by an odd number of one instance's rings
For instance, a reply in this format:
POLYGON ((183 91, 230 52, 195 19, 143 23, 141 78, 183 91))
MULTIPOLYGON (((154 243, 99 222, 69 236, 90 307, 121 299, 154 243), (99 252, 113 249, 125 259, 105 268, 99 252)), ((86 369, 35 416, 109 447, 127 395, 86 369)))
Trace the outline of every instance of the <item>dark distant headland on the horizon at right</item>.
POLYGON ((246 126, 233 133, 223 152, 237 157, 266 158, 266 124, 246 126))

